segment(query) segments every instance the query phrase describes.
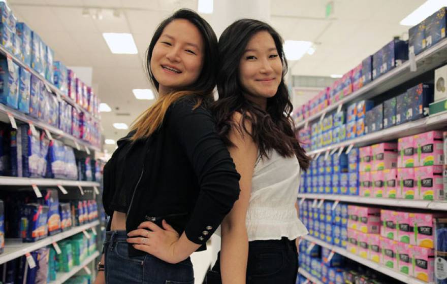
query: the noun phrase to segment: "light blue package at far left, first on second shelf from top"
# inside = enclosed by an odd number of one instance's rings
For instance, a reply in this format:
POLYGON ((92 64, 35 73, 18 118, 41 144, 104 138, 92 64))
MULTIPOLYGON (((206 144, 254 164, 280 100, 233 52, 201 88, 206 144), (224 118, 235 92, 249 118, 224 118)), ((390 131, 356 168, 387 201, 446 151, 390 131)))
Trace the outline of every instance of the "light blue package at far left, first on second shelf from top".
POLYGON ((19 66, 12 62, 10 68, 12 72, 8 69, 6 59, 0 60, 0 102, 13 109, 17 109, 19 98, 19 66))

